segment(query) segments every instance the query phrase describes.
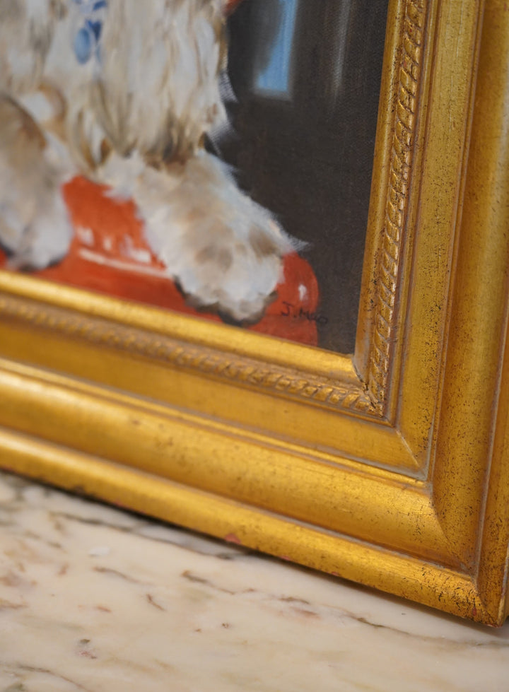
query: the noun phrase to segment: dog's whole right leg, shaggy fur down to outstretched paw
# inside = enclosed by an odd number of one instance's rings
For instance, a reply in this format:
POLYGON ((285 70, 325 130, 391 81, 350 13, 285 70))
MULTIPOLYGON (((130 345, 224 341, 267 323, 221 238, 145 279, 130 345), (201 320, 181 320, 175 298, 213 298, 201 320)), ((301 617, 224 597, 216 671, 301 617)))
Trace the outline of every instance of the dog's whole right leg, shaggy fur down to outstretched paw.
POLYGON ((131 196, 189 303, 254 321, 292 250, 268 211, 201 148, 224 121, 226 0, 108 0, 90 103, 113 153, 96 170, 131 196))

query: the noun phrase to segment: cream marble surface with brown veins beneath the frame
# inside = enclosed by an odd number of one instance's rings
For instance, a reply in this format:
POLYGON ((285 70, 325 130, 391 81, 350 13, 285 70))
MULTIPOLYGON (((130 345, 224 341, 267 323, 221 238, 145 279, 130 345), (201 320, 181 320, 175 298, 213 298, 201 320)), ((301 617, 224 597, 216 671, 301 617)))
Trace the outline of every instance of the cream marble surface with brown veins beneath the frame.
POLYGON ((0 474, 0 692, 508 692, 491 630, 0 474))

